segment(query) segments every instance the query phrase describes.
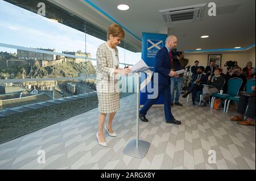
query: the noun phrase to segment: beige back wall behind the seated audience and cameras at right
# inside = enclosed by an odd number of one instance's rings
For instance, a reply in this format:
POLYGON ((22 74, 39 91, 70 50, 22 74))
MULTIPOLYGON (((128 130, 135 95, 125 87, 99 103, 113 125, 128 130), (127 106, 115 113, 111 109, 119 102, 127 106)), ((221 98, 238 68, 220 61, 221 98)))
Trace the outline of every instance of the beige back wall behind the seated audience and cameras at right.
POLYGON ((185 58, 188 58, 188 65, 194 65, 195 61, 199 61, 199 66, 207 66, 208 64, 208 54, 222 54, 221 57, 221 68, 224 73, 226 73, 226 68, 224 64, 226 61, 232 60, 237 61, 238 66, 245 68, 248 61, 253 62, 255 67, 255 47, 246 51, 238 52, 208 52, 208 53, 185 53, 185 58))

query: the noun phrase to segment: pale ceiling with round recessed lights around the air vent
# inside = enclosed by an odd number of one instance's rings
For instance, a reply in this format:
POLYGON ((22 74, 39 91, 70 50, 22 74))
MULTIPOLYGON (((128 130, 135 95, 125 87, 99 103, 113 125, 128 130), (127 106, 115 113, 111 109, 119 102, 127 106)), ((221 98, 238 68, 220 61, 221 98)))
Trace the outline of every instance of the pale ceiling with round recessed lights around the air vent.
MULTIPOLYGON (((87 19, 98 26, 108 28, 113 23, 109 17, 92 7, 84 0, 48 0, 74 12, 81 18, 87 19)), ((255 0, 89 0, 98 9, 104 11, 115 21, 121 23, 139 39, 142 32, 167 30, 168 34, 178 37, 178 49, 228 49, 248 47, 255 43, 255 0), (159 10, 198 5, 214 2, 217 5, 217 16, 208 16, 207 11, 201 22, 182 23, 168 26, 163 22, 159 10), (127 11, 117 9, 119 4, 130 6, 127 11), (229 7, 240 5, 236 12, 229 12, 229 7), (201 35, 209 35, 201 39, 201 35)), ((136 47, 141 47, 133 35, 126 33, 126 40, 136 47)))

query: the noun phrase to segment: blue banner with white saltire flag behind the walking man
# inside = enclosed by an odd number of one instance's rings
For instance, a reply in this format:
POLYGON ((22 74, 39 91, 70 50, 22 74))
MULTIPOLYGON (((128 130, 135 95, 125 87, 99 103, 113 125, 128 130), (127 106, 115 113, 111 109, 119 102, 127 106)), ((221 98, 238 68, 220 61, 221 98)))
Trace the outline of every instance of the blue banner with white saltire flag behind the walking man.
MULTIPOLYGON (((156 53, 158 53, 158 50, 163 48, 166 45, 166 38, 168 35, 166 34, 159 34, 159 33, 142 33, 142 60, 148 65, 148 66, 155 66, 155 56, 156 53)), ((154 69, 152 69, 153 71, 154 69)), ((147 78, 147 74, 143 73, 145 76, 141 77, 141 83, 145 81, 147 78)), ((152 82, 150 81, 148 85, 152 85, 152 82)), ((144 105, 144 103, 147 101, 147 95, 153 94, 148 93, 146 87, 141 87, 140 92, 140 104, 144 105)), ((163 104, 163 97, 160 96, 158 101, 155 104, 163 104)))

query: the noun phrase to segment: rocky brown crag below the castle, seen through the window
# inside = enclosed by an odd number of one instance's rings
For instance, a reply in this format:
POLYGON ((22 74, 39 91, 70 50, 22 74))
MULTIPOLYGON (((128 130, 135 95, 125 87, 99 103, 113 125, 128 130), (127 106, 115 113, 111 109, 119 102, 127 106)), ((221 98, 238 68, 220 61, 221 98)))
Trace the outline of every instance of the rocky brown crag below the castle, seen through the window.
POLYGON ((53 78, 53 77, 77 77, 79 73, 95 74, 96 70, 92 65, 92 62, 76 64, 74 62, 64 62, 62 64, 56 64, 53 66, 42 67, 39 65, 32 66, 19 66, 15 70, 13 68, 5 68, 2 71, 3 74, 9 75, 14 74, 15 78, 22 78, 22 75, 33 78, 53 78))

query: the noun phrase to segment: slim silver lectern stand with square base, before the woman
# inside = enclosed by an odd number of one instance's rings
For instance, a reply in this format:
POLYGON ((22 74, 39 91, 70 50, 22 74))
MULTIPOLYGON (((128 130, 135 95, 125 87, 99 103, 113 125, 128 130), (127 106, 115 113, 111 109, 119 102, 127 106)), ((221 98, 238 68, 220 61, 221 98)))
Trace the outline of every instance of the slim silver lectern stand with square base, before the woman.
POLYGON ((148 69, 150 68, 137 72, 137 138, 136 140, 131 140, 123 150, 123 154, 135 158, 143 158, 150 148, 149 142, 139 140, 139 93, 141 91, 140 74, 148 69))

